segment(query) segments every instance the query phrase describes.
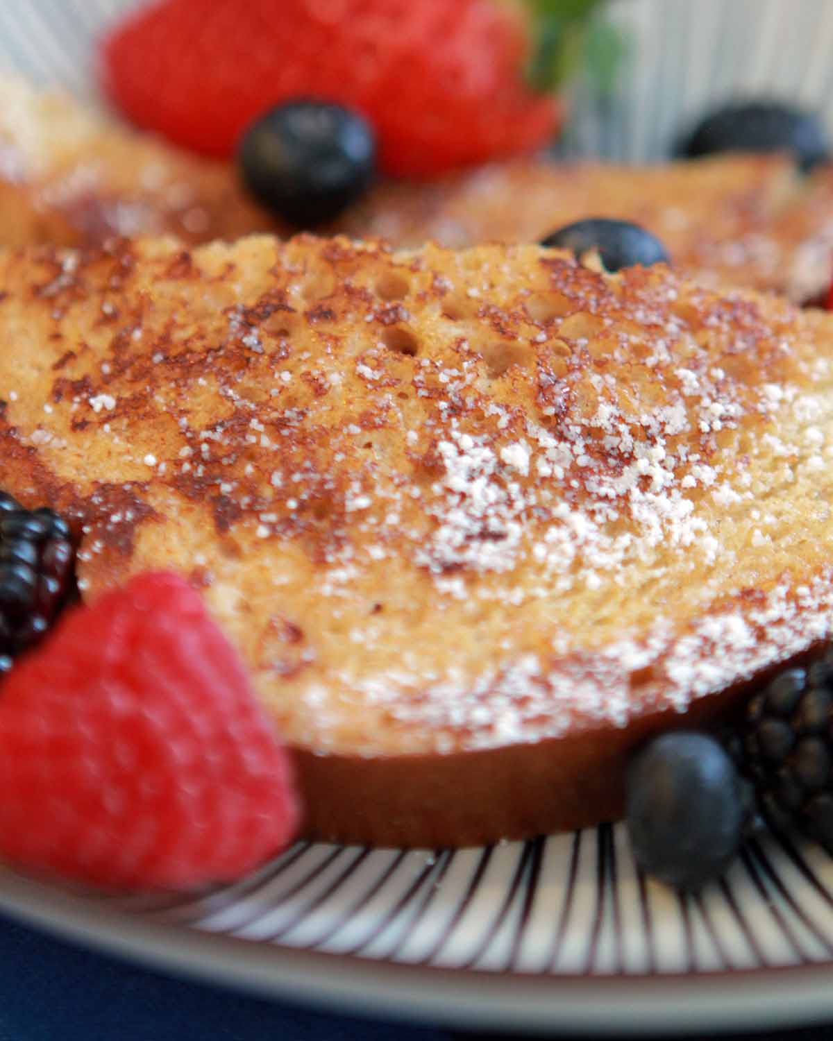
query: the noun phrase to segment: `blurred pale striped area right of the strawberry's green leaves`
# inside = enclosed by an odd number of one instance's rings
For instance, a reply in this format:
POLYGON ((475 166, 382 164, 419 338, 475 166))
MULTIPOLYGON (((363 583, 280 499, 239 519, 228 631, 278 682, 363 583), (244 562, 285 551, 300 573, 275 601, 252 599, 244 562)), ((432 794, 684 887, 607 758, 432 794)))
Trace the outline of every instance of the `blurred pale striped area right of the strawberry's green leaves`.
POLYGON ((732 98, 815 109, 833 133, 827 0, 613 0, 631 58, 609 102, 580 91, 559 154, 667 158, 693 121, 732 98))

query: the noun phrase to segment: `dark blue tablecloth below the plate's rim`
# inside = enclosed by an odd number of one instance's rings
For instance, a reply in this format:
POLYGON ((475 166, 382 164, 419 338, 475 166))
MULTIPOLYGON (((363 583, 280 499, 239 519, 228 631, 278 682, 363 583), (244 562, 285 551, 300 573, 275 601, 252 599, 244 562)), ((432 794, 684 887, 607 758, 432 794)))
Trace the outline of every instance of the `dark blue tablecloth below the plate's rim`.
MULTIPOLYGON (((453 1041, 454 1036, 429 1026, 325 1015, 172 980, 0 916, 0 1041, 169 1039, 453 1041)), ((758 1041, 767 1039, 833 1041, 833 1027, 758 1036, 758 1041)), ((460 1035, 457 1041, 462 1041, 460 1035)))

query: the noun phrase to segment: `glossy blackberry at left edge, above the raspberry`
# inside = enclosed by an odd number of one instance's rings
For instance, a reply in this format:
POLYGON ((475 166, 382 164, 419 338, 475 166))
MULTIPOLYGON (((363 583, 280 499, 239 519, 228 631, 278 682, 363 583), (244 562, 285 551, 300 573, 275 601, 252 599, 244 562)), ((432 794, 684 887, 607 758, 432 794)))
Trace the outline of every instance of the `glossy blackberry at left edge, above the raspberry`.
POLYGON ((26 510, 0 492, 0 674, 76 594, 70 526, 48 507, 26 510))

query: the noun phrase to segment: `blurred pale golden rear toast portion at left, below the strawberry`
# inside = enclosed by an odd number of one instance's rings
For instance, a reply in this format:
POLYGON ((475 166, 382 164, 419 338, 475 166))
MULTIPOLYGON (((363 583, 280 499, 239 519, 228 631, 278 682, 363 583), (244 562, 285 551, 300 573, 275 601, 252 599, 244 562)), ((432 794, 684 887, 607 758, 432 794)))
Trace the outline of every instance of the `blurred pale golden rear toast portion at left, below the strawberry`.
POLYGON ((232 166, 191 155, 69 95, 0 77, 0 243, 186 243, 280 231, 232 166))

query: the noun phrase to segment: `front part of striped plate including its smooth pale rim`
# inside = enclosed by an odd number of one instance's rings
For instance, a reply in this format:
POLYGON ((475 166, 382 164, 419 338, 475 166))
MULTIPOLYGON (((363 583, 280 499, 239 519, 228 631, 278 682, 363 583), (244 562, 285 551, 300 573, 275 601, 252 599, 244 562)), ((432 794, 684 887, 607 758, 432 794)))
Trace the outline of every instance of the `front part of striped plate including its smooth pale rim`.
POLYGON ((622 826, 482 849, 297 844, 198 897, 0 873, 0 907, 157 967, 342 1011, 519 1031, 771 1027, 833 1016, 833 861, 752 843, 696 896, 622 826))

